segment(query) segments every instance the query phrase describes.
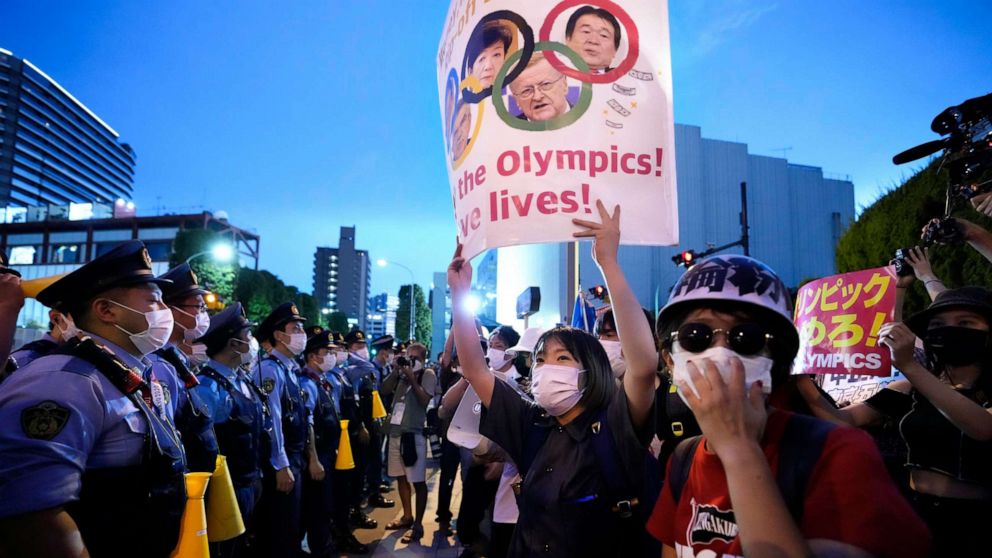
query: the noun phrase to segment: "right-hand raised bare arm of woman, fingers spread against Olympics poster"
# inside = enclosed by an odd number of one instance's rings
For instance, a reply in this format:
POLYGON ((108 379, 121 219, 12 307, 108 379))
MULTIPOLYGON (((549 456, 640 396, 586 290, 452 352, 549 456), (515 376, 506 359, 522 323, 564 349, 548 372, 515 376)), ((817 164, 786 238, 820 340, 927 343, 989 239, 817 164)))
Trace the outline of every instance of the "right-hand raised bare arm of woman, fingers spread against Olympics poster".
POLYGON ((617 335, 627 372, 623 377, 623 389, 627 395, 630 418, 637 427, 644 426, 654 404, 654 381, 658 369, 658 351, 655 347, 651 326, 644 320, 644 312, 637 297, 627 284, 627 278, 617 263, 620 247, 620 206, 613 209, 613 215, 606 211, 603 202, 597 200, 601 222, 573 219, 572 222, 585 230, 576 232, 576 238, 592 238, 592 256, 599 265, 613 304, 617 335))

